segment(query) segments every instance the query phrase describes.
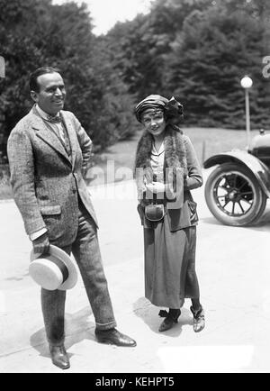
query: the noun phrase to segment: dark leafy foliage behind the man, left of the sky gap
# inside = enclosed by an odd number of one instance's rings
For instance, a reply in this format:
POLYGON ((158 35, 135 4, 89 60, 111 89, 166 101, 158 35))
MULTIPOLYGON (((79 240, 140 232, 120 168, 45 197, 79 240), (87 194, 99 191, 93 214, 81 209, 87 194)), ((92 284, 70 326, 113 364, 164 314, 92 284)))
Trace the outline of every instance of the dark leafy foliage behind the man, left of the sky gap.
POLYGON ((31 108, 29 75, 45 65, 61 70, 67 84, 66 109, 79 118, 96 150, 128 137, 131 97, 97 49, 86 5, 0 0, 0 9, 0 54, 6 61, 6 77, 0 81, 2 154, 15 123, 31 108))

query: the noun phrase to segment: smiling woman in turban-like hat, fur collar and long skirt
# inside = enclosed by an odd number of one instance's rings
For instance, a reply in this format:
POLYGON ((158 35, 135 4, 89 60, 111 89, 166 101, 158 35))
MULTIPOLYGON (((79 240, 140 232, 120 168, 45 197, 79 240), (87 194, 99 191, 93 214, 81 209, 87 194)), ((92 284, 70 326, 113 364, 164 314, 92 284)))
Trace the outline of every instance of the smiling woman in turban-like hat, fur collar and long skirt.
POLYGON ((176 123, 183 106, 149 95, 135 108, 142 134, 135 159, 138 211, 144 226, 145 295, 165 316, 164 332, 177 323, 184 298, 192 300, 193 330, 204 328, 195 272, 196 204, 190 190, 202 186, 202 172, 189 138, 176 123))

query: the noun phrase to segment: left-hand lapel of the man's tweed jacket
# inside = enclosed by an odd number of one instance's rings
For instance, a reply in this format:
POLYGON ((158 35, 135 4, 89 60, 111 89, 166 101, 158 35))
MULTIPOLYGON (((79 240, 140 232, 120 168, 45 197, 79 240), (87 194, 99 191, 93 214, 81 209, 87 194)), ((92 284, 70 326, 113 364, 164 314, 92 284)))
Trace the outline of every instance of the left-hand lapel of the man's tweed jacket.
POLYGON ((52 129, 49 129, 49 127, 47 127, 35 107, 33 107, 31 110, 31 126, 37 131, 37 137, 49 144, 49 146, 54 150, 57 150, 58 153, 64 156, 70 164, 70 160, 67 156, 67 151, 65 150, 65 147, 63 146, 62 142, 59 140, 58 135, 52 129))

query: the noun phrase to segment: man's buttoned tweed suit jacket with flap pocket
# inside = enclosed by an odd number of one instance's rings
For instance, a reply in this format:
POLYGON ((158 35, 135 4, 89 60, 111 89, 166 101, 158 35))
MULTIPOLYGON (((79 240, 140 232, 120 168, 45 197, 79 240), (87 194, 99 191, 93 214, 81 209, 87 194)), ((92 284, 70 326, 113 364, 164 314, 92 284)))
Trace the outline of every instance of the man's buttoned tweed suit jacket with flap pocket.
POLYGON ((71 155, 40 114, 31 112, 16 124, 7 143, 14 200, 28 234, 46 227, 49 241, 58 247, 76 239, 78 195, 97 226, 83 173, 90 159, 92 141, 76 116, 61 111, 71 155))

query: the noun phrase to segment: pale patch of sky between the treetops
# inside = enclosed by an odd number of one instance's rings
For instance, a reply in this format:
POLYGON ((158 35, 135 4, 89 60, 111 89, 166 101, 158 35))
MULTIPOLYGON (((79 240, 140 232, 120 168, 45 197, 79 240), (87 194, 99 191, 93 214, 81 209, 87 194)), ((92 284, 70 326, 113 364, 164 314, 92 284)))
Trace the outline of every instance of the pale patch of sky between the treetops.
MULTIPOLYGON (((80 5, 81 0, 73 0, 80 5)), ((54 0, 61 5, 66 0, 54 0)), ((133 19, 137 14, 146 14, 151 0, 84 0, 88 5, 94 24, 93 32, 100 35, 108 32, 117 22, 133 19)))

